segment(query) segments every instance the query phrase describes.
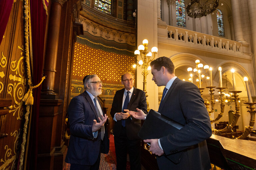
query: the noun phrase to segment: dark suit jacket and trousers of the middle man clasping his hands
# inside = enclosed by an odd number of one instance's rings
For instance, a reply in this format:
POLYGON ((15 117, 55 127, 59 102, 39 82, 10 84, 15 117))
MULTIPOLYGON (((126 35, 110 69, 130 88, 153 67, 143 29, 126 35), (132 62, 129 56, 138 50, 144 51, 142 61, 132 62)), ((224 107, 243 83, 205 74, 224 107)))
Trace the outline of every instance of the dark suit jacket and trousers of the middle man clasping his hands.
MULTIPOLYGON (((125 89, 116 91, 110 111, 112 118, 114 118, 115 113, 122 112, 124 90, 125 89)), ((127 109, 130 111, 136 111, 136 108, 141 109, 144 113, 147 113, 145 92, 134 87, 127 109)), ((117 156, 117 170, 125 170, 127 148, 130 155, 131 170, 141 169, 141 140, 138 136, 138 132, 141 128, 141 120, 131 118, 132 117, 129 117, 125 120, 125 128, 122 127, 121 120, 117 122, 114 121, 114 140, 117 156)))

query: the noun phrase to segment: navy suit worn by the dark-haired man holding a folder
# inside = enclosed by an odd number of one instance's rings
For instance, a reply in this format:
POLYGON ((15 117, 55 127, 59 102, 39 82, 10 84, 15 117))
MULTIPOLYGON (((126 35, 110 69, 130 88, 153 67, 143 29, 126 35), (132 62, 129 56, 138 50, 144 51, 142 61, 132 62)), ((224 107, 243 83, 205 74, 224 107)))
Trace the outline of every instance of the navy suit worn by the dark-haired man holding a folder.
POLYGON ((183 152, 180 162, 175 164, 162 155, 157 157, 159 169, 211 169, 205 141, 212 135, 211 123, 196 85, 176 78, 158 112, 184 125, 177 133, 160 138, 165 155, 183 152))

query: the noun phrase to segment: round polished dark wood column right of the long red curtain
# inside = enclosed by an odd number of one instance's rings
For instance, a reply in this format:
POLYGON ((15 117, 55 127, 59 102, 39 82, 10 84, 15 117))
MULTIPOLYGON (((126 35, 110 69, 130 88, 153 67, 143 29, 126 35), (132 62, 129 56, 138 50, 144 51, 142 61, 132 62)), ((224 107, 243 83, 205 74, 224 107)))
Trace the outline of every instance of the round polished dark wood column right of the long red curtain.
POLYGON ((66 0, 53 0, 51 3, 46 43, 46 55, 43 69, 44 75, 46 75, 46 79, 43 81, 42 86, 43 94, 57 94, 54 90, 54 85, 60 33, 61 8, 65 2, 66 0))

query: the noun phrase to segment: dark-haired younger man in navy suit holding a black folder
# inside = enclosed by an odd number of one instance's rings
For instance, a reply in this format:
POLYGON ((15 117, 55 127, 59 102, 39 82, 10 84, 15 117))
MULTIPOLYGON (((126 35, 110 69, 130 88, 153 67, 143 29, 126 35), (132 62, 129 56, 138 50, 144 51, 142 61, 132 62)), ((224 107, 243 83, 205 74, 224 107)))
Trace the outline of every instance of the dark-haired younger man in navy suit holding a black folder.
MULTIPOLYGON (((150 66, 152 80, 157 86, 165 86, 158 112, 184 125, 174 134, 160 139, 144 140, 151 143, 149 150, 158 155, 159 169, 211 169, 205 141, 212 134, 211 123, 199 89, 193 83, 182 81, 175 76, 170 58, 159 57, 153 60, 150 66), (178 161, 168 159, 167 156, 170 155, 179 156, 176 159, 178 161)), ((129 114, 137 119, 144 119, 146 115, 137 110, 139 112, 130 111, 129 114)))

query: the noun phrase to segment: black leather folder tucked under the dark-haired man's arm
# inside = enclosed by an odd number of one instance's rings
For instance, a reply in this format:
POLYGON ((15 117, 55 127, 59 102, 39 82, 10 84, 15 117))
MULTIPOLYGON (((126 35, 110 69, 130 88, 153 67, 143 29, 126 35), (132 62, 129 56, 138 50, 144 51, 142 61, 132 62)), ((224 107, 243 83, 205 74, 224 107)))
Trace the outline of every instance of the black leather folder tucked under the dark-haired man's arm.
MULTIPOLYGON (((163 136, 167 136, 168 134, 174 134, 181 128, 183 128, 182 124, 150 109, 138 136, 141 139, 159 139, 163 136)), ((164 156, 177 164, 180 162, 182 154, 183 151, 180 151, 164 156)))

